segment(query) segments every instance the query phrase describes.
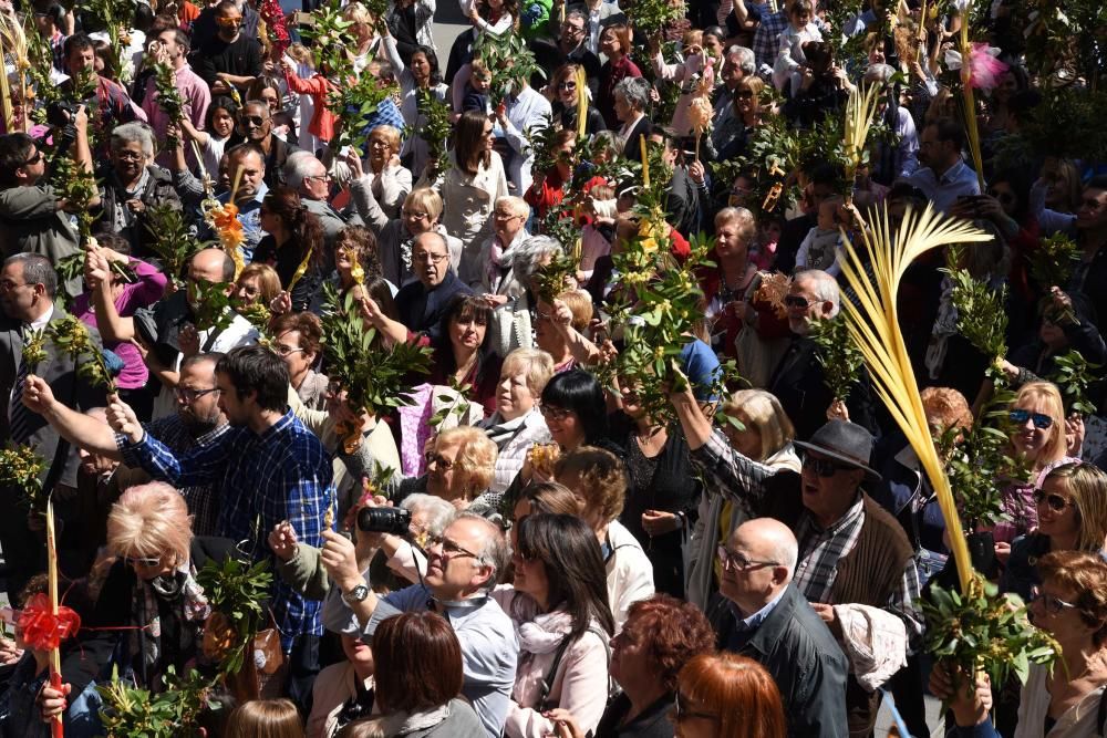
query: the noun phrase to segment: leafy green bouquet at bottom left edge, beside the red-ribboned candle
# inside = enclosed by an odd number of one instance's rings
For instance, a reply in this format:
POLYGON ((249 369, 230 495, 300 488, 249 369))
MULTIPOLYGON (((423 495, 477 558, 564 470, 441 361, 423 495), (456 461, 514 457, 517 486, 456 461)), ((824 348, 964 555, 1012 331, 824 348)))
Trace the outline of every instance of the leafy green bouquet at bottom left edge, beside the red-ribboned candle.
POLYGON ((100 720, 113 738, 194 738, 204 735, 198 725, 200 714, 219 708, 207 698, 214 686, 196 669, 177 677, 170 666, 166 688, 155 695, 121 682, 115 666, 111 683, 96 687, 104 700, 100 720))

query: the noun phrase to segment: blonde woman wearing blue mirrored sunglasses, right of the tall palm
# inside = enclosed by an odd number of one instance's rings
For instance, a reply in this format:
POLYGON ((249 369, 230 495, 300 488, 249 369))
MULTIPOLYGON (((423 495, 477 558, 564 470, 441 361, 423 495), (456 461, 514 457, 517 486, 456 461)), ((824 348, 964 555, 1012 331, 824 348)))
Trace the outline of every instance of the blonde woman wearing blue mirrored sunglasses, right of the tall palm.
MULTIPOLYGON (((1008 417, 1011 447, 1030 466, 1031 479, 1037 479, 1049 465, 1066 457, 1065 406, 1056 385, 1024 384, 1011 404, 1008 417)), ((992 534, 996 555, 1006 561, 1011 542, 1037 528, 1034 484, 1012 481, 1001 505, 1007 520, 996 523, 992 534)))

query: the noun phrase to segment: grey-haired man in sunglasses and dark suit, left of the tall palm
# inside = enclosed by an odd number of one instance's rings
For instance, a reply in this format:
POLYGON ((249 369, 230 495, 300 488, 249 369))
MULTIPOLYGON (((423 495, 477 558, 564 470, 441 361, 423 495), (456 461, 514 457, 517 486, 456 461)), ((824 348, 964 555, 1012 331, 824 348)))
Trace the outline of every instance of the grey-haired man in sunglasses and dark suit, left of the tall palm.
MULTIPOLYGON (((808 337, 810 321, 835 318, 840 305, 838 283, 830 274, 801 271, 793 277, 785 298, 793 339, 769 380, 769 392, 780 401, 796 427, 796 439, 807 440, 827 422, 827 410, 836 399, 825 383, 818 346, 808 337)), ((876 407, 868 375, 853 386, 846 399, 849 419, 877 435, 876 407)))

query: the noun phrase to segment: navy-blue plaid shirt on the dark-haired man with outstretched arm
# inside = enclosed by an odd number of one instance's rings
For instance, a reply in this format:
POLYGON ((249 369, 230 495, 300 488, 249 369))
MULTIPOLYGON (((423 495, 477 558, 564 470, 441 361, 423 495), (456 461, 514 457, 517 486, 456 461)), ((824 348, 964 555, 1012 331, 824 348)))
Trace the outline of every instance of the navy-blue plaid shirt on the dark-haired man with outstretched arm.
MULTIPOLYGON (((266 545, 273 526, 288 520, 307 545, 321 548, 323 516, 334 499, 331 458, 319 439, 286 413, 261 435, 230 428, 217 443, 177 458, 146 434, 138 444, 121 446, 123 459, 174 487, 211 485, 219 499, 219 532, 242 541, 255 561, 276 561, 266 545)), ((301 634, 321 635, 320 603, 304 600, 275 578, 273 616, 286 653, 301 634)))

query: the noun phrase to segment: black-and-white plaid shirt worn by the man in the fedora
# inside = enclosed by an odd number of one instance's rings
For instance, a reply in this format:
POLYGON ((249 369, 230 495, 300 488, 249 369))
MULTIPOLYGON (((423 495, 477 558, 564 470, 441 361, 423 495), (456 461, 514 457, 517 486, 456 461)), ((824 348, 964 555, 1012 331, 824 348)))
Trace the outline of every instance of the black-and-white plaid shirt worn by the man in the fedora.
MULTIPOLYGON (((722 493, 743 506, 751 518, 761 516, 758 508, 767 491, 766 481, 778 471, 734 450, 721 430, 715 430, 706 444, 692 451, 692 466, 702 475, 707 490, 722 493)), ((806 510, 801 514, 796 534, 799 561, 795 582, 809 602, 829 600, 838 560, 853 549, 861 534, 865 524, 862 505, 863 498, 859 496, 846 516, 825 531, 818 528, 806 510)), ((914 605, 919 589, 919 572, 914 559, 910 559, 884 606, 903 621, 908 640, 912 643, 924 631, 922 615, 914 605)))

